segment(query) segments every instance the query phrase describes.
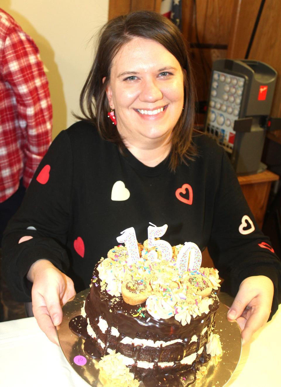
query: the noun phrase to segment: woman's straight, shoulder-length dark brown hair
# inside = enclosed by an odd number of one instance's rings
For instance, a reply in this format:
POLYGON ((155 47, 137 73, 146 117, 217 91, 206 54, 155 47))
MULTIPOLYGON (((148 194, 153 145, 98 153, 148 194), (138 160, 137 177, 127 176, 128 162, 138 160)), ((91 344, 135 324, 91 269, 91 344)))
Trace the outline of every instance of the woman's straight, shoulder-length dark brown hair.
POLYGON ((136 37, 160 43, 178 60, 183 70, 184 108, 171 139, 170 168, 175 171, 178 163, 187 163, 187 159, 196 154, 192 146, 195 89, 190 59, 182 34, 166 17, 156 12, 137 11, 118 16, 105 24, 100 31, 93 66, 80 95, 80 108, 84 116, 77 118, 94 123, 101 137, 117 144, 122 152, 122 138, 107 117, 110 106, 106 97, 106 87, 110 79, 113 58, 125 43, 136 37))

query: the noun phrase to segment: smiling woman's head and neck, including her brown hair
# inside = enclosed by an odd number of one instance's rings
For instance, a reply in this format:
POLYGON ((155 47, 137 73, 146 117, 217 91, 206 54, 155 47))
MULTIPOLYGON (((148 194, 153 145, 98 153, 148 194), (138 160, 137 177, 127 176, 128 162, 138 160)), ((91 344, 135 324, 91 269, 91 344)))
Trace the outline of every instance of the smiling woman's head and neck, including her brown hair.
POLYGON ((192 159, 194 81, 179 29, 149 11, 109 21, 80 107, 105 140, 121 152, 125 145, 145 165, 155 166, 169 153, 171 170, 192 159), (106 120, 113 108, 118 130, 106 120))

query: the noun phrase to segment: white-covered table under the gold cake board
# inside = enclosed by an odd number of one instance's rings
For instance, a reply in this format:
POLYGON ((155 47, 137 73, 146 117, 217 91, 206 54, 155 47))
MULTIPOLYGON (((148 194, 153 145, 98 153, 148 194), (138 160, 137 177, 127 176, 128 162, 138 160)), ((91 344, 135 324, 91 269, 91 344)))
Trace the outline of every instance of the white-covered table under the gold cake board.
MULTIPOLYGON (((221 294, 224 303, 228 295, 221 294)), ((242 349, 227 387, 276 386, 279 379, 281 308, 242 349)), ((34 317, 0 323, 0 384, 3 387, 89 387, 34 317)), ((217 387, 217 386, 216 386, 217 387)), ((219 386, 218 386, 219 387, 219 386)))

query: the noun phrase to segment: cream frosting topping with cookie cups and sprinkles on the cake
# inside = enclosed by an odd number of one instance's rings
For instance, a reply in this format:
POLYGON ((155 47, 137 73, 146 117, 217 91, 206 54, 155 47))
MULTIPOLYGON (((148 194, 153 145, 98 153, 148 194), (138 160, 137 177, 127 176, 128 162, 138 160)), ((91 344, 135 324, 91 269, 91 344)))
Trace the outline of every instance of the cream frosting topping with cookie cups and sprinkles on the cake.
MULTIPOLYGON (((135 292, 144 294, 145 308, 152 317, 173 317, 183 326, 189 324, 192 317, 209 312, 209 306, 216 298, 215 290, 220 287, 220 279, 216 269, 203 267, 181 275, 176 265, 181 248, 182 245, 173 247, 173 257, 167 262, 162 260, 157 248, 147 248, 145 241, 144 245, 139 244, 139 261, 132 263, 126 247, 116 246, 98 265, 101 288, 111 296, 120 297, 122 284, 134 281, 137 286, 135 292), (154 253, 148 255, 151 251, 154 253)), ((95 281, 94 278, 93 283, 95 281)))

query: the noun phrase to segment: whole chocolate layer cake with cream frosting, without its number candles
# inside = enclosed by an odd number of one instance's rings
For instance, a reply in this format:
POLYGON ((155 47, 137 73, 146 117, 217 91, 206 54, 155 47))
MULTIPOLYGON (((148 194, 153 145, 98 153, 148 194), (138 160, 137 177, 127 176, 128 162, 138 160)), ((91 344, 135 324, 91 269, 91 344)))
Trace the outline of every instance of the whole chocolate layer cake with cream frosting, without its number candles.
POLYGON ((129 260, 127 247, 114 247, 96 265, 84 304, 86 353, 93 358, 99 357, 97 350, 100 356, 118 353, 146 386, 192 384, 199 365, 216 353, 211 347, 218 342, 212 334, 218 271, 180 271, 182 247, 173 247, 167 261, 145 241, 138 244, 136 262, 129 260))

